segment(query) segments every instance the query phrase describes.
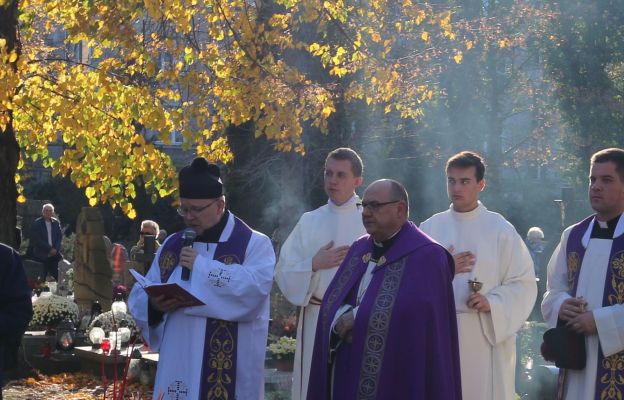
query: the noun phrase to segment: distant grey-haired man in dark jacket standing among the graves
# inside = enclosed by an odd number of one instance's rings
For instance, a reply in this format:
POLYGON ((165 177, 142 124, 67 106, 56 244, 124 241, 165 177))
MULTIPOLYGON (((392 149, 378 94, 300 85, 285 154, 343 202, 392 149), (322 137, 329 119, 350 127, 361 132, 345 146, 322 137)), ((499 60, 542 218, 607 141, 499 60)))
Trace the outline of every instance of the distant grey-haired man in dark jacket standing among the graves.
POLYGON ((53 217, 54 206, 44 204, 41 217, 37 218, 30 232, 33 256, 45 265, 46 274, 58 281, 58 262, 63 259, 61 223, 53 217))

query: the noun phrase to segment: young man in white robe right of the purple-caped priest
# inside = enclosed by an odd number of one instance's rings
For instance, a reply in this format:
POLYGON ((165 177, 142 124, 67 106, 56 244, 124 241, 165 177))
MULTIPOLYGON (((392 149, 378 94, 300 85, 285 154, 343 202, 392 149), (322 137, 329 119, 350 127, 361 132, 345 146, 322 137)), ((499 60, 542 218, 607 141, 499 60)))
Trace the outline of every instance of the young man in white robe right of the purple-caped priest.
POLYGON ((479 201, 481 156, 464 151, 446 163, 449 210, 420 226, 455 261, 453 291, 464 400, 515 399, 516 332, 529 316, 537 286, 531 255, 511 225, 479 201), (469 281, 482 284, 474 292, 469 281))

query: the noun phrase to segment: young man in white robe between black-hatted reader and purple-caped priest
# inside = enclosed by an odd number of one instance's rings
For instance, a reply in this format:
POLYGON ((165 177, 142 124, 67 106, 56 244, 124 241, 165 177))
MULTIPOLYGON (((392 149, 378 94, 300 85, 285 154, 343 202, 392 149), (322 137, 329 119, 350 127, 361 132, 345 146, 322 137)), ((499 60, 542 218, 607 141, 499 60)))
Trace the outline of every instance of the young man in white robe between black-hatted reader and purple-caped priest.
POLYGON ((349 148, 330 152, 325 160, 327 204, 301 216, 280 251, 275 281, 288 301, 302 306, 297 324, 297 349, 292 400, 304 400, 308 391, 316 321, 323 295, 349 246, 366 230, 360 198, 360 156, 349 148))

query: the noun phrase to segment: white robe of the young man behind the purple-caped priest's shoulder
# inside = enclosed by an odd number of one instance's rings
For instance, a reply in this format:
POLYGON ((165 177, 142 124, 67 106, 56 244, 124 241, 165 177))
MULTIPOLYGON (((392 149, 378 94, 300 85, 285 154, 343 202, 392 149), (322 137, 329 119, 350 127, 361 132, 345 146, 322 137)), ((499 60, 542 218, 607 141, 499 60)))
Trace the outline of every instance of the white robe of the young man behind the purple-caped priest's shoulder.
POLYGON ((366 233, 362 212, 356 206, 359 201, 357 195, 340 206, 329 200, 326 205, 303 214, 280 251, 275 282, 288 301, 302 306, 297 325, 292 400, 306 398, 319 301, 338 269, 314 272, 312 258, 331 240, 334 247, 351 245, 366 233))

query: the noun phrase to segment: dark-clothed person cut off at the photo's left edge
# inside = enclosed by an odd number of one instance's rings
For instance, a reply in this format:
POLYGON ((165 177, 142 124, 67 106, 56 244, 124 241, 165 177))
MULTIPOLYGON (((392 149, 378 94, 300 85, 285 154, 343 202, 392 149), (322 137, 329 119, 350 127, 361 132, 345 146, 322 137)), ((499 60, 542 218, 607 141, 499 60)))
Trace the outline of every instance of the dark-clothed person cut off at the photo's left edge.
POLYGON ((19 255, 0 243, 0 400, 2 372, 15 366, 17 349, 32 314, 31 291, 19 255))

